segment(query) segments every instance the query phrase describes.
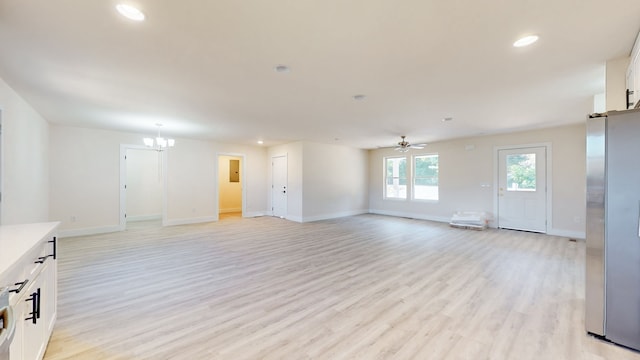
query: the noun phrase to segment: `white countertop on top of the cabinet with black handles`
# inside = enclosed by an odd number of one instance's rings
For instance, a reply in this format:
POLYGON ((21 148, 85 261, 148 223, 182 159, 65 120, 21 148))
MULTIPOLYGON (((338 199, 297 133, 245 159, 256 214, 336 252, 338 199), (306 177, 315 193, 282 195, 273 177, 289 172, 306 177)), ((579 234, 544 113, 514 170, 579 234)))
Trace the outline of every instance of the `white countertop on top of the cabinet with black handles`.
POLYGON ((0 275, 33 249, 59 222, 0 226, 0 275))

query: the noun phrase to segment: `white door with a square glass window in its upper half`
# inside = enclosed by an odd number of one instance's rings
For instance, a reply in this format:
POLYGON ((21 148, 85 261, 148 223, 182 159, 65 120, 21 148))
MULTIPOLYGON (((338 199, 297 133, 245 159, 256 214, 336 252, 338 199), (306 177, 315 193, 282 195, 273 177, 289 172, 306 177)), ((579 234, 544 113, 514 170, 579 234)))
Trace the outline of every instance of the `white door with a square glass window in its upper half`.
POLYGON ((546 147, 498 151, 498 227, 547 232, 546 147))

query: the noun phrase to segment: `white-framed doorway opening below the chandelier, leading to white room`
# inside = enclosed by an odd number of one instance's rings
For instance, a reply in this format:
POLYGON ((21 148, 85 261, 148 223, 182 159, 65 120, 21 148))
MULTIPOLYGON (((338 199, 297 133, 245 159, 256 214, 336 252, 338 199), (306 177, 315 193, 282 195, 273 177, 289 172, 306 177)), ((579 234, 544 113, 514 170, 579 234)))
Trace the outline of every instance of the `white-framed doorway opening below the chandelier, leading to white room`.
POLYGON ((165 218, 165 152, 136 145, 122 145, 120 150, 121 230, 161 227, 165 218))

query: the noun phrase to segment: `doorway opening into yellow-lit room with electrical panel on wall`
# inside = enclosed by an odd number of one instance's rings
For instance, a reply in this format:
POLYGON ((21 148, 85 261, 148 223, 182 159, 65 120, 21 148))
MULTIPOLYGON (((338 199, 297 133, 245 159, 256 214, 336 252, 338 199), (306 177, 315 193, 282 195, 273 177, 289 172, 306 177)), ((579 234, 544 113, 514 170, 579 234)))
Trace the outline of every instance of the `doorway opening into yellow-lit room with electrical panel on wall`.
POLYGON ((244 211, 244 155, 218 155, 218 219, 242 218, 244 211))

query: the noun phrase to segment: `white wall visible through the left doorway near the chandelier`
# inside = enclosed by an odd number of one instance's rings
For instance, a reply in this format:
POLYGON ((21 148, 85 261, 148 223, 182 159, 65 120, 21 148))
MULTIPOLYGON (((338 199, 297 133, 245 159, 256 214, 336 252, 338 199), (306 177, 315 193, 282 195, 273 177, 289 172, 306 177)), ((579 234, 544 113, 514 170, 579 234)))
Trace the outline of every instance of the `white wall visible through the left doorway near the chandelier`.
POLYGON ((162 177, 159 153, 127 149, 127 221, 162 218, 162 177))

